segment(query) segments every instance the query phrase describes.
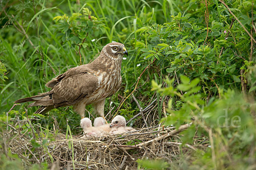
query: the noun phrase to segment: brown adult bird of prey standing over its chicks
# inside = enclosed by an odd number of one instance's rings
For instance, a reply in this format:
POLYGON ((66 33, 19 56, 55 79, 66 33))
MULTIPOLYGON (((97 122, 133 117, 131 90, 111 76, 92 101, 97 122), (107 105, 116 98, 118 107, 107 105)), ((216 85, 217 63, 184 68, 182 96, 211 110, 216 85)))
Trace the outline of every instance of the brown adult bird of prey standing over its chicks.
POLYGON ((128 56, 123 44, 111 42, 102 48, 93 62, 70 68, 47 82, 46 86, 52 88, 50 91, 15 103, 33 102, 28 107, 40 106, 35 113, 41 114, 53 108, 73 105, 81 118, 84 118, 85 106, 93 104, 96 113, 105 119, 105 99, 113 95, 122 82, 120 71, 124 54, 128 56))

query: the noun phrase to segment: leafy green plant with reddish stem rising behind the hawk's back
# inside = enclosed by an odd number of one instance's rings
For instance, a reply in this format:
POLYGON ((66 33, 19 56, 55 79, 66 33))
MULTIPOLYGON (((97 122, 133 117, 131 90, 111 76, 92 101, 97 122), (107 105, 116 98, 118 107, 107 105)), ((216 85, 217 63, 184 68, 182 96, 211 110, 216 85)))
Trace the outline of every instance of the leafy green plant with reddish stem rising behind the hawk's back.
POLYGON ((88 34, 93 36, 93 39, 105 33, 105 24, 101 19, 91 15, 88 8, 83 8, 81 13, 73 13, 71 17, 66 14, 53 18, 57 22, 56 37, 61 36, 63 42, 70 42, 70 45, 79 47, 80 64, 81 64, 81 47, 86 48, 88 43, 85 42, 88 34))

